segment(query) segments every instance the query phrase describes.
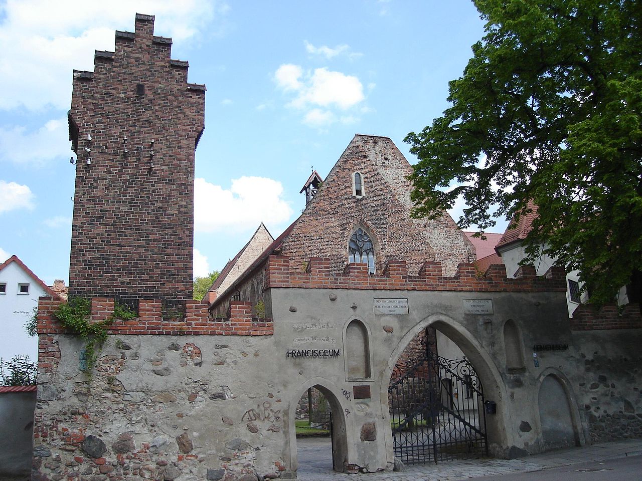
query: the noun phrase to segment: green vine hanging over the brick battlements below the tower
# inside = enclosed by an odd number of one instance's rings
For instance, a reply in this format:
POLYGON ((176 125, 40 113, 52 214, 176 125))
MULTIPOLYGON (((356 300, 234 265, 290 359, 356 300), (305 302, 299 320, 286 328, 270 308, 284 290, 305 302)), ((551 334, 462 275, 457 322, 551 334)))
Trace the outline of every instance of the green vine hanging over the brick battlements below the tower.
POLYGON ((91 300, 87 298, 69 298, 66 304, 61 304, 53 313, 53 317, 60 321, 60 324, 72 333, 85 340, 85 353, 87 356, 87 368, 85 371, 91 376, 91 372, 98 360, 98 352, 107 339, 107 328, 114 322, 114 319, 132 319, 136 317, 126 305, 117 301, 114 302, 114 314, 105 321, 92 322, 91 300))

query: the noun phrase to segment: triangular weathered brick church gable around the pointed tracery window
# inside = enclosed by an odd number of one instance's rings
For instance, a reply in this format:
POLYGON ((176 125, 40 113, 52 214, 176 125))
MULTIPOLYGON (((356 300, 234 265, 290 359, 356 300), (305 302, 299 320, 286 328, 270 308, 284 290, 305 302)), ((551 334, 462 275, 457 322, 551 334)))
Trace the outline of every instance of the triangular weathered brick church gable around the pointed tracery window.
POLYGON ((327 257, 334 273, 343 272, 349 238, 358 227, 374 238, 377 273, 391 259, 405 260, 415 272, 426 260, 437 260, 444 275, 453 275, 457 264, 473 260, 472 244, 448 214, 437 221, 410 218, 410 173, 392 140, 356 135, 282 242, 291 269, 304 269, 311 257, 327 257), (355 172, 363 176, 361 198, 353 195, 355 172))

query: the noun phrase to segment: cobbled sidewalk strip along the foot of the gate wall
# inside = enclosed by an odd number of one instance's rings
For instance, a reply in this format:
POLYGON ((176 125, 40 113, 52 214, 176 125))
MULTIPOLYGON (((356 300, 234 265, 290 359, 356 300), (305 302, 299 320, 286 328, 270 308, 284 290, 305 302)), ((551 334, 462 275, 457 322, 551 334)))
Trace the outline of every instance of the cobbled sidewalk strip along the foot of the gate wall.
POLYGON ((332 471, 331 448, 327 438, 297 439, 299 480, 325 481, 350 479, 386 481, 455 481, 489 475, 524 473, 569 466, 586 461, 642 455, 642 439, 593 444, 580 448, 551 451, 519 459, 473 459, 438 464, 408 466, 403 472, 347 475, 332 471))

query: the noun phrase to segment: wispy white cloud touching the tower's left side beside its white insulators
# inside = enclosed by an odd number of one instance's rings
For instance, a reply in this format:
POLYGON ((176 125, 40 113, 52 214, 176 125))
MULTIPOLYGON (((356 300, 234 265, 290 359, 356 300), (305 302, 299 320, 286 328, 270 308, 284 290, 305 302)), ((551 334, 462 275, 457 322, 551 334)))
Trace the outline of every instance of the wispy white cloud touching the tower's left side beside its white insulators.
POLYGON ((41 165, 47 160, 71 156, 67 119, 50 120, 36 131, 23 126, 0 127, 0 162, 41 165))

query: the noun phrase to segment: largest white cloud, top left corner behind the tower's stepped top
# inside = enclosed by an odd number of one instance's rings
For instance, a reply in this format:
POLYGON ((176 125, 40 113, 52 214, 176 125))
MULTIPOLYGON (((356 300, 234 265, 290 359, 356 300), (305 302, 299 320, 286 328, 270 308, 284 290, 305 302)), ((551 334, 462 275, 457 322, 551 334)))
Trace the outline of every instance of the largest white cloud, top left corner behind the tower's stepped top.
POLYGON ((0 108, 69 108, 73 69, 94 69, 94 49, 114 50, 114 30, 136 12, 156 15, 155 34, 185 41, 227 6, 216 0, 8 0, 0 6, 0 108))

